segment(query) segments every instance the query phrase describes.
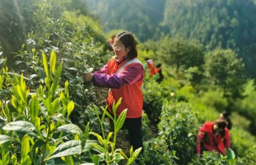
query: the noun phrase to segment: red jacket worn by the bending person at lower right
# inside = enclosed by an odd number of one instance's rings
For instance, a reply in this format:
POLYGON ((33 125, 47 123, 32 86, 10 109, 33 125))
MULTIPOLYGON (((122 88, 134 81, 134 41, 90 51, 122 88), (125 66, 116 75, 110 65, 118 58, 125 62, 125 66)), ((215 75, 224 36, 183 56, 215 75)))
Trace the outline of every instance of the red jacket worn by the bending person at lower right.
POLYGON ((207 151, 221 152, 223 155, 226 155, 225 147, 230 148, 230 133, 228 132, 228 129, 224 129, 225 133, 223 137, 221 136, 221 133, 219 133, 219 135, 214 135, 213 125, 214 122, 207 121, 200 128, 196 146, 197 154, 200 154, 200 143, 202 140, 204 140, 203 147, 207 151))

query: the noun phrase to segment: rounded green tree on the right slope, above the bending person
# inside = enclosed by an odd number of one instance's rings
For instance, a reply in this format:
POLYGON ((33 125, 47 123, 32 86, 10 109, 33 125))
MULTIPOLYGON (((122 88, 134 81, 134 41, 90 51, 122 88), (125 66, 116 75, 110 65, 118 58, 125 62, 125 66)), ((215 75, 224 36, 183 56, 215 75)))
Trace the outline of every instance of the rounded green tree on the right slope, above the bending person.
POLYGON ((244 64, 231 49, 216 49, 205 55, 207 82, 223 89, 224 96, 239 97, 245 82, 244 64))

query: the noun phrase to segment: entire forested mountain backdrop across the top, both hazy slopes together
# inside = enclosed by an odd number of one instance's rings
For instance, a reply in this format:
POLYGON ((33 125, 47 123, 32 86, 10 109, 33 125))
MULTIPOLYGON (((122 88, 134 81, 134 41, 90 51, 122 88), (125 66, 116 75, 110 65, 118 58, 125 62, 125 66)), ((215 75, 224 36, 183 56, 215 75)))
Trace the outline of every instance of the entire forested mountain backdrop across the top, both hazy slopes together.
POLYGON ((255 0, 86 0, 106 33, 124 29, 140 41, 182 34, 207 49, 235 50, 256 78, 255 0))

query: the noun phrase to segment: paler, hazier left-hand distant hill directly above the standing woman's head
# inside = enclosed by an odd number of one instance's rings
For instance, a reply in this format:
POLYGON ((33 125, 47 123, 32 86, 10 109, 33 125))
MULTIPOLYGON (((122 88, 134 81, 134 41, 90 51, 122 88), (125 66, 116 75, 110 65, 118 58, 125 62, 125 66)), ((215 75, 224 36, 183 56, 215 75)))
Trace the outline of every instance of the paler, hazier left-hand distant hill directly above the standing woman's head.
POLYGON ((124 29, 135 33, 140 41, 158 39, 162 32, 166 0, 86 0, 91 11, 98 14, 105 32, 124 29))

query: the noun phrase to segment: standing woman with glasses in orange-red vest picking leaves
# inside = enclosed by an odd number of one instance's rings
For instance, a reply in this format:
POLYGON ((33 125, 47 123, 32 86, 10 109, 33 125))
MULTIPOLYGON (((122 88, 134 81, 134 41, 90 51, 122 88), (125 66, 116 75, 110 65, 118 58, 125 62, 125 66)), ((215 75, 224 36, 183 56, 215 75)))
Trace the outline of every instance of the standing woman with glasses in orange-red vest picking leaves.
POLYGON ((131 33, 118 34, 112 48, 116 56, 100 70, 94 73, 83 73, 83 81, 92 81, 96 87, 110 88, 107 102, 108 111, 112 114, 113 102, 117 103, 122 98, 116 115, 119 116, 127 108, 123 128, 128 129, 133 150, 142 147, 140 152, 142 154, 143 64, 137 59, 136 43, 131 33))

